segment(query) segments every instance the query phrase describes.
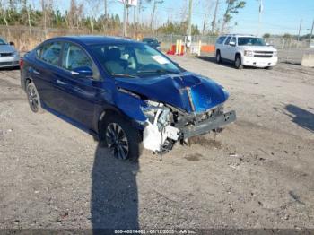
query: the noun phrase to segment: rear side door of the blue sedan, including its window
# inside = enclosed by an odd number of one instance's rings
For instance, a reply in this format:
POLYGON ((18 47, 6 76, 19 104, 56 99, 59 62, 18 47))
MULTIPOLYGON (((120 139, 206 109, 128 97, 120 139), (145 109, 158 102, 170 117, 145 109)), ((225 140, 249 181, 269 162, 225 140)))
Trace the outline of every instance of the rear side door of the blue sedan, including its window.
POLYGON ((60 73, 60 55, 62 49, 61 41, 48 41, 46 44, 37 48, 36 63, 29 67, 31 78, 35 83, 41 102, 50 109, 58 112, 64 106, 64 97, 58 92, 57 74, 60 73))

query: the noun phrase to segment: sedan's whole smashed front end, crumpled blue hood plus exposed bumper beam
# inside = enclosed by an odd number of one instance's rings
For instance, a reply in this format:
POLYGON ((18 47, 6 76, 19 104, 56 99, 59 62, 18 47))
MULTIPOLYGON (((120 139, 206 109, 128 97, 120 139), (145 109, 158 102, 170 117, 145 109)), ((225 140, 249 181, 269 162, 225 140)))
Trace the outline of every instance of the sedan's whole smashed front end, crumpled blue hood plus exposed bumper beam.
POLYGON ((168 152, 176 142, 183 144, 192 136, 217 131, 236 119, 235 111, 223 113, 229 93, 198 74, 116 81, 143 101, 143 143, 153 152, 168 152))

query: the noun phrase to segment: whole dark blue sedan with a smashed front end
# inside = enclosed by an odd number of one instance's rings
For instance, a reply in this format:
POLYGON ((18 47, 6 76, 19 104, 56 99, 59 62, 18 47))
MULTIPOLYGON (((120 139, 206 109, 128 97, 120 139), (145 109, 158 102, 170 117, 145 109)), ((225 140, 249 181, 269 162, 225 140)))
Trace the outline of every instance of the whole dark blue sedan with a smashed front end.
POLYGON ((169 152, 236 118, 235 111, 223 112, 229 93, 222 85, 129 39, 48 39, 20 65, 33 112, 63 118, 122 160, 136 160, 143 147, 169 152))

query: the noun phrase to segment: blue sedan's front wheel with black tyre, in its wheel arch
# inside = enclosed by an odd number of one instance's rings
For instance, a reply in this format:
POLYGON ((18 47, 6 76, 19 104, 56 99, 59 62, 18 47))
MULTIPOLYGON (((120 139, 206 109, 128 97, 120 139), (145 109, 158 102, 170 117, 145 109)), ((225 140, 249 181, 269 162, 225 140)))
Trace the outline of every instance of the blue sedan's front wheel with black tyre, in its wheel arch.
POLYGON ((136 161, 142 152, 139 130, 117 115, 104 117, 104 144, 119 160, 136 161))

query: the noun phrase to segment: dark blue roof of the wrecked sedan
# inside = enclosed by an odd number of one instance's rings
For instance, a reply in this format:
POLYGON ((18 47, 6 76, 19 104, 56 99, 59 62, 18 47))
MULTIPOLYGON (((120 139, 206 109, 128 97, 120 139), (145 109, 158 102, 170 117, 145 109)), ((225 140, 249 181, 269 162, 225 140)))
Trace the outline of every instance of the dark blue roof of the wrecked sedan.
POLYGON ((131 44, 140 43, 132 39, 126 39, 122 37, 105 37, 105 36, 91 36, 91 35, 80 35, 80 36, 63 36, 53 39, 66 39, 74 42, 79 42, 85 45, 93 44, 131 44))

